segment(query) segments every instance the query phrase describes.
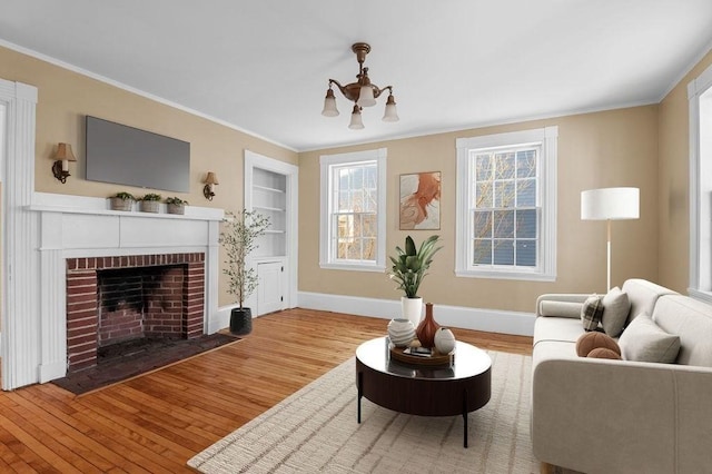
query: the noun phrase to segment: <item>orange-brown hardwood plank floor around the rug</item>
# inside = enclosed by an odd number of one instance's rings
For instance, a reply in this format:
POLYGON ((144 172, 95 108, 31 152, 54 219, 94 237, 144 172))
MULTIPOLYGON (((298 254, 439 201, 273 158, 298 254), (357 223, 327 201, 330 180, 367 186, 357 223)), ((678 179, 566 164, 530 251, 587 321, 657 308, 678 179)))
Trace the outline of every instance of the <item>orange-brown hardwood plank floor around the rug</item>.
MULTIPOLYGON (((52 384, 0 393, 0 472, 192 472, 196 453, 385 335, 386 324, 291 309, 255 319, 243 340, 93 393, 52 384)), ((453 332, 531 354, 531 337, 453 332)))

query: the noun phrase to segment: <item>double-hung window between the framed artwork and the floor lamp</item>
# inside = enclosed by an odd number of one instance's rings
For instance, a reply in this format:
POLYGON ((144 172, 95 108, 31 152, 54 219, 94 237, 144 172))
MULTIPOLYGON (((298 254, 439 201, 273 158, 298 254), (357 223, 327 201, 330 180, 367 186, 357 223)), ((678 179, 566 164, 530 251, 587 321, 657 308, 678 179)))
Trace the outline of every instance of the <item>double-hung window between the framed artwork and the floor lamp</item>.
POLYGON ((557 135, 457 140, 457 276, 555 278, 557 135))

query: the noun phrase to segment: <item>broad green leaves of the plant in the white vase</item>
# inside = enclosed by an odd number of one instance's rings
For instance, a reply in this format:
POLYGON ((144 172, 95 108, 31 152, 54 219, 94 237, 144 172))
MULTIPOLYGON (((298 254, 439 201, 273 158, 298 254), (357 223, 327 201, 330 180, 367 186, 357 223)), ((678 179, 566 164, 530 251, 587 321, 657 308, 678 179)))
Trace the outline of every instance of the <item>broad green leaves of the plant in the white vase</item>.
POLYGON ((396 246, 396 257, 388 257, 393 267, 388 276, 398 284, 397 289, 405 292, 408 298, 418 297, 418 288, 427 269, 433 263, 433 256, 443 247, 436 247, 439 236, 431 236, 421 244, 416 250, 415 241, 411 236, 405 238, 405 250, 396 246))

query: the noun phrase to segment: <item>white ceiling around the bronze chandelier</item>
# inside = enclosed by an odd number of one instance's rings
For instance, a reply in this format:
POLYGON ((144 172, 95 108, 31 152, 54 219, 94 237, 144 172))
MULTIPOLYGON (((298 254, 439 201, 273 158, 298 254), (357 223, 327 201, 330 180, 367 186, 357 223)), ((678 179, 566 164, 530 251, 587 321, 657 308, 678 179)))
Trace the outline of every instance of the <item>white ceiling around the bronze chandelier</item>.
POLYGON ((0 0, 0 39, 303 151, 657 102, 712 46, 712 1, 0 0), (320 115, 356 41, 400 121, 384 96, 349 130, 338 91, 320 115))

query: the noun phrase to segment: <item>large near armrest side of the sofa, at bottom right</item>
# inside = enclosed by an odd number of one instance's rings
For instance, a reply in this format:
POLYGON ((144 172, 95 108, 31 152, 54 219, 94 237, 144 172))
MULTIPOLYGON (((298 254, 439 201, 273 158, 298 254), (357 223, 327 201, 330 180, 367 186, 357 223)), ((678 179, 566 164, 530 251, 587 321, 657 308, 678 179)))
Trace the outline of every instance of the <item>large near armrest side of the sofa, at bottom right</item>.
POLYGON ((532 385, 532 444, 586 473, 698 472, 712 446, 712 368, 545 359, 532 385))

